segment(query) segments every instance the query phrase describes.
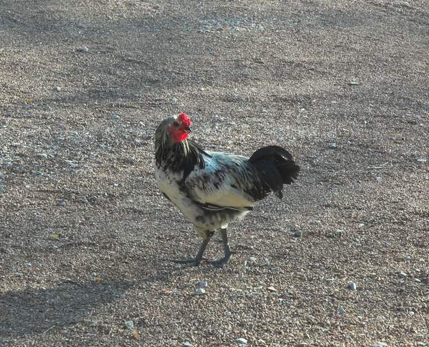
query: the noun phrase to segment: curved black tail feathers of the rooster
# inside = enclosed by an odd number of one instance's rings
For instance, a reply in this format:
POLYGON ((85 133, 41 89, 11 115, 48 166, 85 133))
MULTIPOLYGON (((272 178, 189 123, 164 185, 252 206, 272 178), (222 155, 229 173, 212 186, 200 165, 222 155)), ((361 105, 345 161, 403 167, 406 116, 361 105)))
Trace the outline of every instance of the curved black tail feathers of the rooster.
POLYGON ((283 184, 291 184, 298 177, 300 167, 292 155, 279 146, 267 146, 256 150, 249 159, 261 172, 263 182, 282 199, 283 184))

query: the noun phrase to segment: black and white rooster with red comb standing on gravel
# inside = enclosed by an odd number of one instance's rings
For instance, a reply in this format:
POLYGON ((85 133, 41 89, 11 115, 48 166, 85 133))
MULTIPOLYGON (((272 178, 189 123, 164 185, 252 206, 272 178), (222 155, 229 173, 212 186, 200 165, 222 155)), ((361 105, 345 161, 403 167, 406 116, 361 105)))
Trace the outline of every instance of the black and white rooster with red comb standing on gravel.
POLYGON ((223 267, 232 254, 226 228, 274 192, 283 197, 300 170, 292 155, 279 146, 256 150, 250 158, 203 150, 188 139, 191 121, 186 113, 168 117, 155 131, 155 179, 159 190, 202 238, 195 258, 175 262, 199 265, 210 238, 219 230, 223 258, 210 263, 223 267))

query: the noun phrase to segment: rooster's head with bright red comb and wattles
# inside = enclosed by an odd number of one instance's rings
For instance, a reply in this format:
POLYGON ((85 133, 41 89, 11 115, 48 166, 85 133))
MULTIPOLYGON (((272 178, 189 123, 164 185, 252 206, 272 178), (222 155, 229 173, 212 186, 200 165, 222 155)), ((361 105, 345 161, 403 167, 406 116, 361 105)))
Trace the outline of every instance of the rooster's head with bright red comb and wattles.
POLYGON ((192 122, 184 112, 177 117, 168 117, 159 124, 155 132, 155 138, 161 142, 179 143, 184 141, 190 133, 192 122))

